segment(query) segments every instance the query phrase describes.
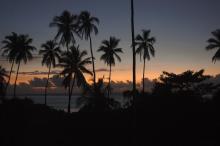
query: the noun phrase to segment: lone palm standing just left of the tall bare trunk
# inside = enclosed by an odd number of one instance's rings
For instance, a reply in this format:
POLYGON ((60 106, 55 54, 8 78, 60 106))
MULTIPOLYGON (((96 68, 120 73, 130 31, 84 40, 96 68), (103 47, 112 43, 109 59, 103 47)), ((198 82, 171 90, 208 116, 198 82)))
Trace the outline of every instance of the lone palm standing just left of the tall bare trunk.
POLYGON ((98 52, 103 52, 104 54, 100 57, 100 60, 103 60, 107 66, 109 66, 109 84, 108 84, 108 98, 110 94, 110 83, 111 83, 111 71, 112 66, 115 65, 115 57, 119 62, 121 58, 117 53, 123 53, 122 48, 118 48, 119 39, 115 37, 110 37, 109 40, 102 41, 101 47, 98 49, 98 52))

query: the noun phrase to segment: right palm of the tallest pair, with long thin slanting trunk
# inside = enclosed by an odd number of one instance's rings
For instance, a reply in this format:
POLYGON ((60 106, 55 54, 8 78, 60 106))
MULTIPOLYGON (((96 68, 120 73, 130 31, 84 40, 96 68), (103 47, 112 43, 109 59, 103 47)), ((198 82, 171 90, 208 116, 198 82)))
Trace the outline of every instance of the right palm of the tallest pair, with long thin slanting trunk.
POLYGON ((96 73, 95 73, 95 63, 94 63, 94 55, 92 50, 92 38, 91 34, 94 32, 95 35, 98 34, 97 24, 99 24, 99 19, 96 17, 92 17, 88 11, 82 11, 79 15, 79 33, 82 38, 85 40, 89 39, 90 42, 90 52, 92 58, 92 70, 93 70, 93 82, 94 86, 96 85, 96 73))

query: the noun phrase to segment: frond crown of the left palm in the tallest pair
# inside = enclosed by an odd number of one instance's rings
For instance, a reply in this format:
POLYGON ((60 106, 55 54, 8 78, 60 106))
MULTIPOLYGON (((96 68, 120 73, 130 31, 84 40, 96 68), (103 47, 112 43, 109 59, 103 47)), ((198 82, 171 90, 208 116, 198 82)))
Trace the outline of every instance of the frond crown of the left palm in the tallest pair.
POLYGON ((75 43, 74 35, 78 35, 77 22, 77 15, 73 15, 69 11, 65 10, 60 16, 55 16, 53 18, 53 22, 50 23, 50 27, 58 28, 55 40, 60 38, 59 43, 66 46, 67 51, 69 51, 70 43, 75 43))

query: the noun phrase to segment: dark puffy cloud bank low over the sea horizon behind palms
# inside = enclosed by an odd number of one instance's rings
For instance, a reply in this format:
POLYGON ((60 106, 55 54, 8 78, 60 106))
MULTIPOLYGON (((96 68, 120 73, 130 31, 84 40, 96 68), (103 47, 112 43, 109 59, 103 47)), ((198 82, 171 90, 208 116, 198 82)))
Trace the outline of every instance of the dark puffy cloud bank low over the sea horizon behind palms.
MULTIPOLYGON (((220 76, 219 76, 220 79, 220 76)), ((17 86, 17 93, 18 95, 31 95, 31 94, 44 94, 45 90, 45 84, 46 84, 47 78, 37 78, 30 80, 29 83, 20 83, 17 86)), ((153 88, 153 81, 149 80, 148 78, 145 78, 145 91, 151 91, 153 88)), ((48 93, 49 94, 65 94, 67 93, 66 89, 62 85, 63 77, 59 75, 54 75, 49 80, 49 87, 48 93)), ((108 83, 105 82, 105 85, 108 83)), ((119 93, 121 94, 125 90, 132 90, 133 83, 132 81, 112 81, 111 82, 112 87, 112 93, 119 93)), ((142 90, 142 84, 137 84, 137 89, 142 90)), ((10 85, 10 94, 13 95, 13 86, 10 85)), ((73 94, 80 94, 81 88, 74 87, 73 94)))

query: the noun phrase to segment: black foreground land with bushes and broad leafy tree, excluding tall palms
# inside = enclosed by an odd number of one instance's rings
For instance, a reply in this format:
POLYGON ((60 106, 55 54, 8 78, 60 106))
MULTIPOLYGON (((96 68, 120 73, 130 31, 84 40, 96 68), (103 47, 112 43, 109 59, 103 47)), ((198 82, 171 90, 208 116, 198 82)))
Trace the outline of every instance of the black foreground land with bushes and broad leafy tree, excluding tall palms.
POLYGON ((97 98, 82 97, 85 106, 77 113, 30 99, 5 100, 0 104, 1 144, 217 145, 220 90, 203 73, 163 72, 152 93, 136 91, 135 115, 132 91, 124 92, 127 104, 120 107, 105 96, 102 80, 98 91, 86 94, 97 98))

